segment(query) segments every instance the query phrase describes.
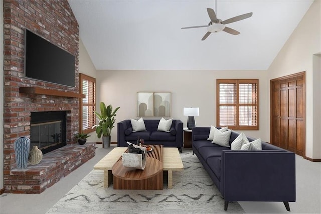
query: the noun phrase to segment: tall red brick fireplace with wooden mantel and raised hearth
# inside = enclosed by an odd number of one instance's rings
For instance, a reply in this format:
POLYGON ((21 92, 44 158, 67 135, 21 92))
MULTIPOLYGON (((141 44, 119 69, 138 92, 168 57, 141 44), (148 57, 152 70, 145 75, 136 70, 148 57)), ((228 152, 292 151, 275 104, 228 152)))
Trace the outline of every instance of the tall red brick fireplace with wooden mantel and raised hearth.
MULTIPOLYGON (((67 0, 3 1, 4 8, 4 188, 6 193, 40 193, 94 155, 78 148, 79 26, 67 0), (75 56, 75 87, 25 78, 24 30, 35 32, 75 56), (16 169, 14 141, 30 136, 31 112, 66 112, 66 146, 44 155, 41 165, 16 169), (62 150, 63 148, 68 147, 62 150), (50 162, 49 159, 55 159, 50 162)), ((44 71, 45 72, 45 71, 44 71)), ((62 77, 63 78, 63 77, 62 77)))

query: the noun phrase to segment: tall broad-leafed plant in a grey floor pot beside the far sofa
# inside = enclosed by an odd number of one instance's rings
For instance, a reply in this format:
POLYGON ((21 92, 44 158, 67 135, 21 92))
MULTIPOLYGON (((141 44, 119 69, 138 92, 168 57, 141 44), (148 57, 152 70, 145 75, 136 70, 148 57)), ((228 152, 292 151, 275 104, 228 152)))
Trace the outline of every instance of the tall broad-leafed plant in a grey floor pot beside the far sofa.
POLYGON ((96 127, 96 134, 98 138, 102 136, 103 148, 110 147, 111 130, 113 127, 115 127, 115 116, 119 108, 120 107, 117 107, 114 111, 112 111, 112 105, 108 105, 106 107, 104 102, 100 102, 100 113, 95 111, 98 124, 94 125, 93 128, 96 127))

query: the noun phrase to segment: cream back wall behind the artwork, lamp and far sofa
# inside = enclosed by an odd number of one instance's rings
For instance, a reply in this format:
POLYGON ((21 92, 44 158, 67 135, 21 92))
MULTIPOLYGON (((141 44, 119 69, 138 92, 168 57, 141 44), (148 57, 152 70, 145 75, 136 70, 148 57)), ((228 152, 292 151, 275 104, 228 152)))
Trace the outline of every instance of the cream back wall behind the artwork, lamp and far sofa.
MULTIPOLYGON (((267 130, 269 111, 266 97, 268 85, 266 71, 97 71, 97 104, 100 101, 113 108, 120 106, 116 123, 137 118, 137 92, 171 92, 172 116, 186 126, 184 107, 199 107, 195 117, 197 126, 216 125, 216 79, 259 79, 260 130, 245 131, 250 136, 269 138, 267 130)), ((155 117, 153 117, 155 118, 155 117)), ((146 118, 148 119, 148 118, 146 118)), ((149 118, 151 119, 151 118, 149 118)), ((112 142, 117 142, 117 126, 112 131, 112 142)))

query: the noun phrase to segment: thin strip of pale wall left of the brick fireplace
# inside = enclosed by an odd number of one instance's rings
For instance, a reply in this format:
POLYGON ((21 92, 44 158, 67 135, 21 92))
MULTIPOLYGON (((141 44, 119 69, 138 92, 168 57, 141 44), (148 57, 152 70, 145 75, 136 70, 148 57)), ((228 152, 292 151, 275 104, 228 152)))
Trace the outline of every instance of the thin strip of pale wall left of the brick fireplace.
MULTIPOLYGON (((0 1, 0 41, 4 41, 4 21, 3 21, 3 1, 0 1)), ((3 64, 4 64, 4 46, 3 43, 0 45, 0 88, 2 91, 4 91, 4 70, 3 70, 3 64)), ((3 129, 3 113, 4 113, 4 93, 0 93, 0 189, 4 188, 4 182, 3 182, 3 161, 4 161, 4 152, 3 152, 3 147, 4 147, 4 129, 3 129)))

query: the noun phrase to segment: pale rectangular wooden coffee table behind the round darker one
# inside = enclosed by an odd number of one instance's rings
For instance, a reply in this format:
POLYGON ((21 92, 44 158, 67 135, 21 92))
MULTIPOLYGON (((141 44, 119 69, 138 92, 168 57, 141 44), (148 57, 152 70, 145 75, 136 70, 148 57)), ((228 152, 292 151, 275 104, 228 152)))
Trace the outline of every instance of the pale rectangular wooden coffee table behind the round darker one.
MULTIPOLYGON (((107 188, 113 181, 111 172, 113 165, 121 158, 127 147, 116 147, 103 157, 95 166, 96 170, 104 170, 104 188, 107 188)), ((151 152, 151 154, 154 151, 151 152)), ((184 166, 177 148, 163 148, 162 152, 163 171, 167 171, 168 188, 173 186, 173 171, 182 171, 184 166)))

